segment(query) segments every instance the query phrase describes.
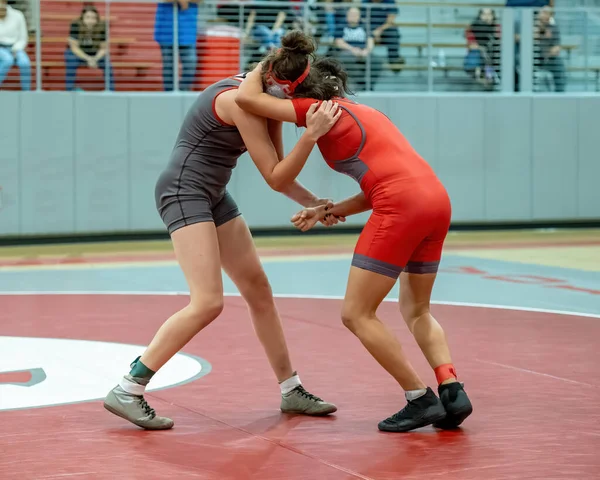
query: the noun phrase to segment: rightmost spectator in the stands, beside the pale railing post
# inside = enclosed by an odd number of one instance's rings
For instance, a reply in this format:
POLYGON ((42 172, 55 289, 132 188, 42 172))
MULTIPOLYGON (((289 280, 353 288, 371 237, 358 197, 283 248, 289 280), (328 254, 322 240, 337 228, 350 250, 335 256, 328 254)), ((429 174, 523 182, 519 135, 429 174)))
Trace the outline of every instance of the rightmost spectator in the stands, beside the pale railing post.
POLYGON ((554 90, 564 92, 566 85, 565 64, 560 58, 560 30, 550 7, 542 8, 534 27, 535 67, 552 74, 554 90))

